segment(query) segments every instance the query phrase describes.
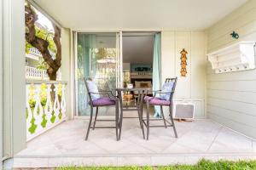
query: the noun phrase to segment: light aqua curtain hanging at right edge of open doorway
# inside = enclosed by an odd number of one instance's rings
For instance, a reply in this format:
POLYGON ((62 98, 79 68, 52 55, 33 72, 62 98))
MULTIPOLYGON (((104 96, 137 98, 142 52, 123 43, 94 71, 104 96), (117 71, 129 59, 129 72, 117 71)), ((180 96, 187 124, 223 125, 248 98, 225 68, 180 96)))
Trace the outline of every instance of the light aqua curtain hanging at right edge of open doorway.
MULTIPOLYGON (((154 56, 153 56, 153 90, 160 89, 161 76, 161 37, 160 33, 154 35, 154 56)), ((159 96, 157 96, 159 97, 159 96)), ((160 106, 154 106, 154 116, 160 117, 160 106)))

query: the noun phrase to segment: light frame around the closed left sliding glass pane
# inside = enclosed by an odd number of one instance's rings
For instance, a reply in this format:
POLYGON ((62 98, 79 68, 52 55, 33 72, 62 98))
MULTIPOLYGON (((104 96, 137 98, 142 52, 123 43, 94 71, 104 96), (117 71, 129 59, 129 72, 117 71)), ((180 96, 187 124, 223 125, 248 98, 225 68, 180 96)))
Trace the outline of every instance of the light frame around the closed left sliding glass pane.
MULTIPOLYGON (((123 87, 123 39, 122 31, 73 31, 73 55, 74 55, 74 116, 79 116, 79 102, 78 102, 78 33, 116 33, 116 57, 118 62, 116 64, 116 86, 123 87)), ((89 63, 90 65, 90 63, 89 63)))

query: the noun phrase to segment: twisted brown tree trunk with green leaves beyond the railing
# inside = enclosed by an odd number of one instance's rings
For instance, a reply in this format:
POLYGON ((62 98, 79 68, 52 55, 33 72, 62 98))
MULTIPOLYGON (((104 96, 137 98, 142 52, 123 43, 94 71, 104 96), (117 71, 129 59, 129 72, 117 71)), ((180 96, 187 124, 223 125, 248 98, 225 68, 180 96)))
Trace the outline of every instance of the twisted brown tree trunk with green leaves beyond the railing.
POLYGON ((38 15, 40 13, 31 4, 25 3, 26 42, 41 52, 48 64, 49 80, 56 80, 56 73, 61 67, 61 28, 51 23, 54 31, 50 31, 47 26, 40 25, 38 15))

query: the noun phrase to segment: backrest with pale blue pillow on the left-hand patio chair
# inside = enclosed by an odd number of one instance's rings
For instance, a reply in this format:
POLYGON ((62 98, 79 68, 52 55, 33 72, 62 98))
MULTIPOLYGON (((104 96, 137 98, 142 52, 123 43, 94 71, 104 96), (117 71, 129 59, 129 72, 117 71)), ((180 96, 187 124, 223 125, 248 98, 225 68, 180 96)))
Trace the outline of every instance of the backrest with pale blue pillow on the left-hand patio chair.
POLYGON ((99 99, 101 97, 100 94, 97 94, 99 93, 99 90, 96 86, 96 82, 92 81, 91 77, 84 77, 84 83, 85 83, 85 87, 89 95, 90 101, 99 99))

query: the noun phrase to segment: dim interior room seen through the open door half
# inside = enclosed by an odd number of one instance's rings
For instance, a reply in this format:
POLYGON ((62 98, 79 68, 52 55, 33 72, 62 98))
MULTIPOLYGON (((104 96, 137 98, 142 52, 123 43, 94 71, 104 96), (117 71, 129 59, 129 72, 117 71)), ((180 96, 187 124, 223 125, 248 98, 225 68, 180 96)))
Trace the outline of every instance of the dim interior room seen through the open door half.
MULTIPOLYGON (((155 33, 155 31, 123 32, 123 87, 153 90, 155 33)), ((149 95, 152 95, 152 93, 150 92, 149 95)), ((125 94, 126 105, 133 105, 136 98, 137 92, 125 94)))

